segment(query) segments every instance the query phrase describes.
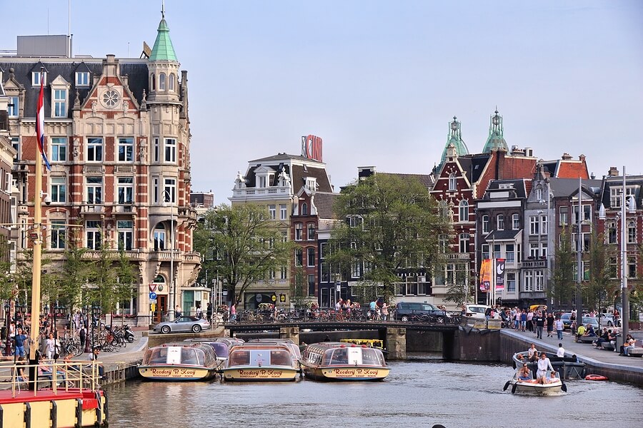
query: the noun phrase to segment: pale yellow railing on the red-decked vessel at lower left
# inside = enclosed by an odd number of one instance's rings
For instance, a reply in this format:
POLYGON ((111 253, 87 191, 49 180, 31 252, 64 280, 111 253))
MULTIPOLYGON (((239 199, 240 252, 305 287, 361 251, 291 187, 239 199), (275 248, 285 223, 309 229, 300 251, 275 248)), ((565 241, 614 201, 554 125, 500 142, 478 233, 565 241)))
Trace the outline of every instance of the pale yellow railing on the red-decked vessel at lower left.
POLYGON ((54 394, 69 392, 70 389, 96 391, 100 387, 100 366, 99 361, 86 360, 46 360, 39 365, 0 363, 0 389, 10 388, 12 397, 24 391, 36 397, 39 389, 47 389, 54 394), (31 370, 36 370, 35 380, 29 380, 31 370))

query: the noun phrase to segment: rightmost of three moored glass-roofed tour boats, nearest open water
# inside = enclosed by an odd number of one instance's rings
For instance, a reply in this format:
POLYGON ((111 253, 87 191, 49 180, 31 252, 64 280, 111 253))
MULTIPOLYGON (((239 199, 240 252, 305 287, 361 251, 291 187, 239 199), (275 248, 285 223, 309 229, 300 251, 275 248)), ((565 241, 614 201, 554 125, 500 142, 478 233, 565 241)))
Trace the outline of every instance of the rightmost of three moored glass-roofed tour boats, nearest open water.
POLYGON ((308 345, 301 367, 317 380, 382 380, 390 371, 382 350, 342 342, 308 345))

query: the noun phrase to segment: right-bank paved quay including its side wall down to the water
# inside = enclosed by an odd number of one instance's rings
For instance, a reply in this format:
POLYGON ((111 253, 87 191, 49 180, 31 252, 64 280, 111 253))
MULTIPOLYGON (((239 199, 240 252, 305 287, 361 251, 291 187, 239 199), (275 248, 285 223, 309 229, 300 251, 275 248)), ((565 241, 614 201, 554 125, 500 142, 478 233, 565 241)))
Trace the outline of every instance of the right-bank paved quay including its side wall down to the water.
MULTIPOLYGON (((641 347, 643 331, 634 330, 630 333, 637 339, 637 347, 641 347)), ((527 342, 524 350, 527 350, 529 344, 533 342, 537 350, 553 352, 554 355, 558 350, 558 344, 562 343, 565 356, 571 357, 575 354, 580 361, 587 365, 588 374, 602 374, 609 379, 643 384, 641 382, 643 379, 643 357, 625 357, 619 355, 618 350, 617 352, 599 350, 594 348, 591 343, 574 342, 574 337, 569 332, 564 332, 563 340, 559 340, 556 335, 547 337, 547 332, 544 332, 542 339, 537 339, 533 332, 519 332, 507 328, 502 329, 501 334, 527 342)))

